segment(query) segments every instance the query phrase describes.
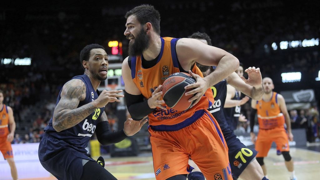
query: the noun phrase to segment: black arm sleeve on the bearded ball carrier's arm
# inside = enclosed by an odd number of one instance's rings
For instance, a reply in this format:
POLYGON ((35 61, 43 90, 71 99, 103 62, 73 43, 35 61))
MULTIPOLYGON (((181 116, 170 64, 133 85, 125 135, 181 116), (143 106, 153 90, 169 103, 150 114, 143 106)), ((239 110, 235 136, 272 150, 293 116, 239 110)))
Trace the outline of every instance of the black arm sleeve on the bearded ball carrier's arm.
POLYGON ((149 107, 148 100, 144 100, 142 94, 132 95, 127 92, 124 92, 124 94, 128 111, 133 120, 139 121, 155 110, 149 107))

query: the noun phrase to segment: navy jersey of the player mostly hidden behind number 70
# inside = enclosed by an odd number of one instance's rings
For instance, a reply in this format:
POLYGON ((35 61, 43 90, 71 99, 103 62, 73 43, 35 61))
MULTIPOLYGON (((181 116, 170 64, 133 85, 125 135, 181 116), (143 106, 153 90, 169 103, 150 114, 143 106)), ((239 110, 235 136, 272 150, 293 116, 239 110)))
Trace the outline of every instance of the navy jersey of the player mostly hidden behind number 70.
MULTIPOLYGON (((232 98, 232 100, 240 100, 240 92, 236 90, 235 96, 232 98)), ((227 119, 228 125, 231 130, 235 130, 238 125, 238 120, 240 116, 240 106, 235 106, 232 108, 224 108, 224 115, 227 119)))

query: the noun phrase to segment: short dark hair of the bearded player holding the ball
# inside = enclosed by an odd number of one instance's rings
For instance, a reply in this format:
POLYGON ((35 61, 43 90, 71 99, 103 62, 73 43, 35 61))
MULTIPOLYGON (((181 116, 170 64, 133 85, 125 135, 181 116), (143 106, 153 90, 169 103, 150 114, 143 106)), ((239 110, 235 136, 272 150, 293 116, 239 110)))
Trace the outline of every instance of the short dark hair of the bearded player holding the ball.
POLYGON ((160 35, 160 13, 152 5, 142 4, 133 8, 125 14, 125 19, 129 16, 135 15, 140 24, 150 22, 156 33, 160 35))

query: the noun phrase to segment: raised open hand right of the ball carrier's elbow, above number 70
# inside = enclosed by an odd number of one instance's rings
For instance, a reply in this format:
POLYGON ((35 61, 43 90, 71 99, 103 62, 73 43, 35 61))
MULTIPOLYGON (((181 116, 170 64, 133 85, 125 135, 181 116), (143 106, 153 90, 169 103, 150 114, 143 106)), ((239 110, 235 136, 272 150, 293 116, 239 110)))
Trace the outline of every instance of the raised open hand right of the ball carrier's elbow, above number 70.
POLYGON ((244 70, 244 72, 248 73, 248 79, 241 76, 240 78, 250 86, 262 86, 262 76, 260 72, 260 68, 249 67, 244 70))

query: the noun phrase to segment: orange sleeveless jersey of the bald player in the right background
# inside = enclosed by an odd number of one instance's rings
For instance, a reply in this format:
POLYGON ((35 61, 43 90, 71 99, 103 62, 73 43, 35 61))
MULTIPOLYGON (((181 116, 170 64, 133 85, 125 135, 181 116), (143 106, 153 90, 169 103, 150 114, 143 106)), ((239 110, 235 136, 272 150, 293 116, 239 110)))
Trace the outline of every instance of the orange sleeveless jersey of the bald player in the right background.
POLYGON ((284 115, 281 113, 277 95, 276 92, 273 92, 269 102, 264 100, 257 101, 256 108, 260 129, 273 129, 284 126, 284 115))

